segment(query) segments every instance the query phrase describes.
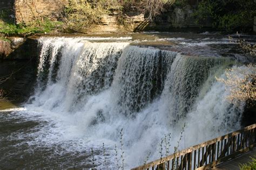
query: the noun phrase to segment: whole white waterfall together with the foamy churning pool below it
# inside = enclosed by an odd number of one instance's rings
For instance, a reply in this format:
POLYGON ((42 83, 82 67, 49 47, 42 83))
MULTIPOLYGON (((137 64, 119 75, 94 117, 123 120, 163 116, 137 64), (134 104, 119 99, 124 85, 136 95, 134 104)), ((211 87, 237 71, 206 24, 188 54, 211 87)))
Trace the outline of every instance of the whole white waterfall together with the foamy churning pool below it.
POLYGON ((98 168, 116 169, 121 129, 132 168, 149 152, 149 160, 160 157, 165 134, 172 152, 184 123, 180 149, 240 128, 243 107, 228 103, 215 80, 233 59, 102 39, 39 39, 35 93, 19 111, 0 114, 0 168, 91 168, 92 148, 98 168))

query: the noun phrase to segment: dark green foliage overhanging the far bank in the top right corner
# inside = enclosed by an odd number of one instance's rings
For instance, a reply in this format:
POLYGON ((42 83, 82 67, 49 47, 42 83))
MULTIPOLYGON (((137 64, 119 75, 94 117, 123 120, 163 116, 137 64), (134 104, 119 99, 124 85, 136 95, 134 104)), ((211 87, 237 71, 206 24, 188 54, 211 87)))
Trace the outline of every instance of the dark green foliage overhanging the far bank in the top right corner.
POLYGON ((194 15, 198 24, 211 21, 214 28, 231 31, 252 25, 256 5, 254 0, 203 0, 194 15))

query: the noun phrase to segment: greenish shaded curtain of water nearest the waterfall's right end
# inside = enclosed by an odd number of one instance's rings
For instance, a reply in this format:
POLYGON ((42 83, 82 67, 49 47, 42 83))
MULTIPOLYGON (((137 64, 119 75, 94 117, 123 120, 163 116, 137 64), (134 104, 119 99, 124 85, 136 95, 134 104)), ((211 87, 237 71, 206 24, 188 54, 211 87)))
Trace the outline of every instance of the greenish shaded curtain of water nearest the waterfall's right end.
POLYGON ((172 115, 172 121, 185 117, 207 78, 227 60, 218 57, 176 57, 163 92, 164 100, 169 103, 165 110, 172 115))

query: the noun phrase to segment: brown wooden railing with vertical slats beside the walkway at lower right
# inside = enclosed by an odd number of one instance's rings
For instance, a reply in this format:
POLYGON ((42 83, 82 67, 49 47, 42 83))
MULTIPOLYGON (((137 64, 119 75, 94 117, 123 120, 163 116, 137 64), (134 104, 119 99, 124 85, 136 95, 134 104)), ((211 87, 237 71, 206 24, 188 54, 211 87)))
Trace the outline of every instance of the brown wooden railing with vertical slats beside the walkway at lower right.
POLYGON ((256 124, 241 130, 208 140, 199 145, 186 148, 183 151, 169 155, 165 158, 149 162, 143 166, 133 168, 141 169, 206 169, 214 167, 242 152, 247 152, 256 146, 256 124))

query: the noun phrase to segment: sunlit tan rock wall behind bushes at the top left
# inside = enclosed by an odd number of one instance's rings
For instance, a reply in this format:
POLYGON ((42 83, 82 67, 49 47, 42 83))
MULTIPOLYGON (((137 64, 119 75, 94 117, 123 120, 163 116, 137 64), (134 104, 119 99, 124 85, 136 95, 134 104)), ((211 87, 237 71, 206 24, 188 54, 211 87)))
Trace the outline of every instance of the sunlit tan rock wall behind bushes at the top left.
POLYGON ((39 16, 59 17, 66 0, 15 0, 16 23, 30 22, 39 16))

